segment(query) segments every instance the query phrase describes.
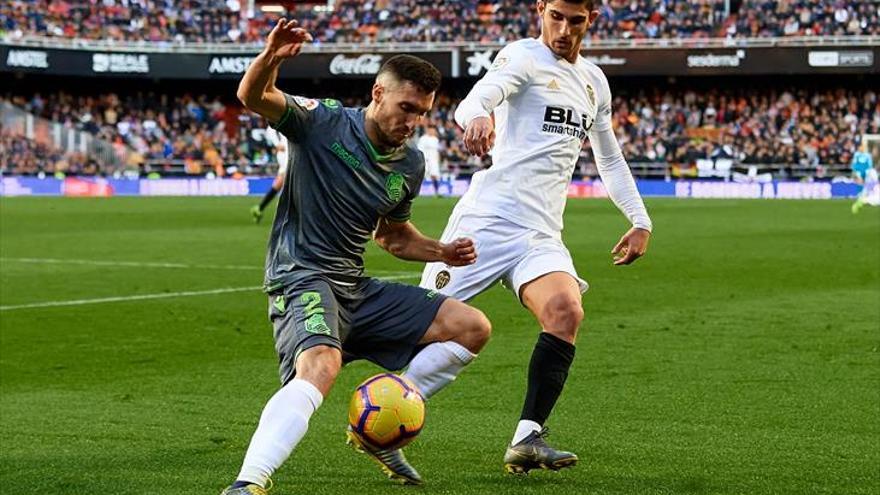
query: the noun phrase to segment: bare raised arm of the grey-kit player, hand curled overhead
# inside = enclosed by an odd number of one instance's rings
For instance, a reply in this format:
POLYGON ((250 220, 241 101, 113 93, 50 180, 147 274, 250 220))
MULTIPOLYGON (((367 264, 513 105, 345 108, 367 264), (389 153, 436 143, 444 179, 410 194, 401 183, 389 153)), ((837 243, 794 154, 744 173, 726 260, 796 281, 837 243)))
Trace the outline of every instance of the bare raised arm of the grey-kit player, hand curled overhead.
POLYGON ((297 26, 295 20, 279 19, 266 39, 266 47, 238 85, 236 96, 241 103, 270 122, 278 122, 287 110, 284 93, 275 87, 278 68, 286 59, 297 56, 303 43, 312 41, 312 35, 297 26))

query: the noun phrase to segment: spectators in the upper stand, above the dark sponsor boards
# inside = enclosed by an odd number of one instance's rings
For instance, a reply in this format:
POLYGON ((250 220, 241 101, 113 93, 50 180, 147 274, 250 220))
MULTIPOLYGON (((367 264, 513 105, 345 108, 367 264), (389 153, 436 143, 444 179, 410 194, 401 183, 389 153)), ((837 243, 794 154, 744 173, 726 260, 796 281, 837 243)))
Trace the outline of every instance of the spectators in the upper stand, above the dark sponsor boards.
MULTIPOLYGON (((0 39, 25 36, 130 42, 260 43, 277 14, 245 14, 240 0, 11 0, 0 4, 0 39)), ((733 2, 736 5, 736 2, 733 2)), ((864 0, 742 0, 726 16, 718 0, 604 0, 595 39, 880 34, 880 4, 864 0)), ((338 0, 297 7, 317 43, 502 42, 537 36, 532 1, 338 0)))

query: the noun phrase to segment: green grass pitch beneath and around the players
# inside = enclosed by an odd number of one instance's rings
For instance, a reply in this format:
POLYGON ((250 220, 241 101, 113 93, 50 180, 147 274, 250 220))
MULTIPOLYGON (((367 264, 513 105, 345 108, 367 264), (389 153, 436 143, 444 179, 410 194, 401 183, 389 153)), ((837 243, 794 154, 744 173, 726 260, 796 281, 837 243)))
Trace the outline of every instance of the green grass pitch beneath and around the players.
MULTIPOLYGON (((254 198, 0 200, 0 305, 259 285, 254 198), (58 258, 253 270, 43 264, 58 258)), ((571 201, 592 288, 551 443, 581 464, 502 473, 537 325, 504 289, 480 358, 428 404, 407 448, 421 494, 880 491, 880 212, 838 201, 651 200, 649 255, 612 267, 608 201, 571 201)), ((438 235, 452 202, 420 199, 438 235)), ((418 272, 375 246, 369 270, 418 272)), ((417 277, 409 280, 417 283, 417 277)), ((212 494, 238 472, 277 387, 257 291, 0 311, 4 493, 212 494)), ((274 495, 386 494, 344 445, 346 368, 275 475, 274 495)), ((399 492, 398 492, 399 490, 399 492)))

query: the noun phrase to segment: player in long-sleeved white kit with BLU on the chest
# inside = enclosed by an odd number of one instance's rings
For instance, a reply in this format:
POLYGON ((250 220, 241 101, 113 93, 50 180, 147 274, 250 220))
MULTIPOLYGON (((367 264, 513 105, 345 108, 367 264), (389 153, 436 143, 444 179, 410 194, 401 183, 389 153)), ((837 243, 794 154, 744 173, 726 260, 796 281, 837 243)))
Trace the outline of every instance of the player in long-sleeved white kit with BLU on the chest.
POLYGON ((632 224, 612 249, 614 264, 644 254, 651 235, 651 219, 611 128, 608 80, 579 56, 598 5, 538 1, 541 37, 502 49, 457 108, 465 147, 479 156, 491 149, 493 164, 474 174, 442 238, 474 239, 480 258, 469 267, 430 263, 422 275, 422 287, 465 301, 500 280, 541 325, 521 420, 504 456, 510 473, 558 470, 578 460, 546 443, 544 423, 568 376, 584 316, 587 283, 575 271, 561 232, 585 139, 608 195, 632 224))

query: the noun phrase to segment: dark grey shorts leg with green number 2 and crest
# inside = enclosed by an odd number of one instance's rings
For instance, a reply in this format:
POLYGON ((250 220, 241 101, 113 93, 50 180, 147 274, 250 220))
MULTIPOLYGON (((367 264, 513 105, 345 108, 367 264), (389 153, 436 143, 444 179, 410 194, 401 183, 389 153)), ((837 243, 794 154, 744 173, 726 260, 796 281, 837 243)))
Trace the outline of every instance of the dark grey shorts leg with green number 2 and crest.
POLYGON ((297 360, 306 350, 317 346, 342 347, 339 305, 330 284, 321 277, 300 280, 270 294, 269 319, 282 384, 296 376, 297 360))

